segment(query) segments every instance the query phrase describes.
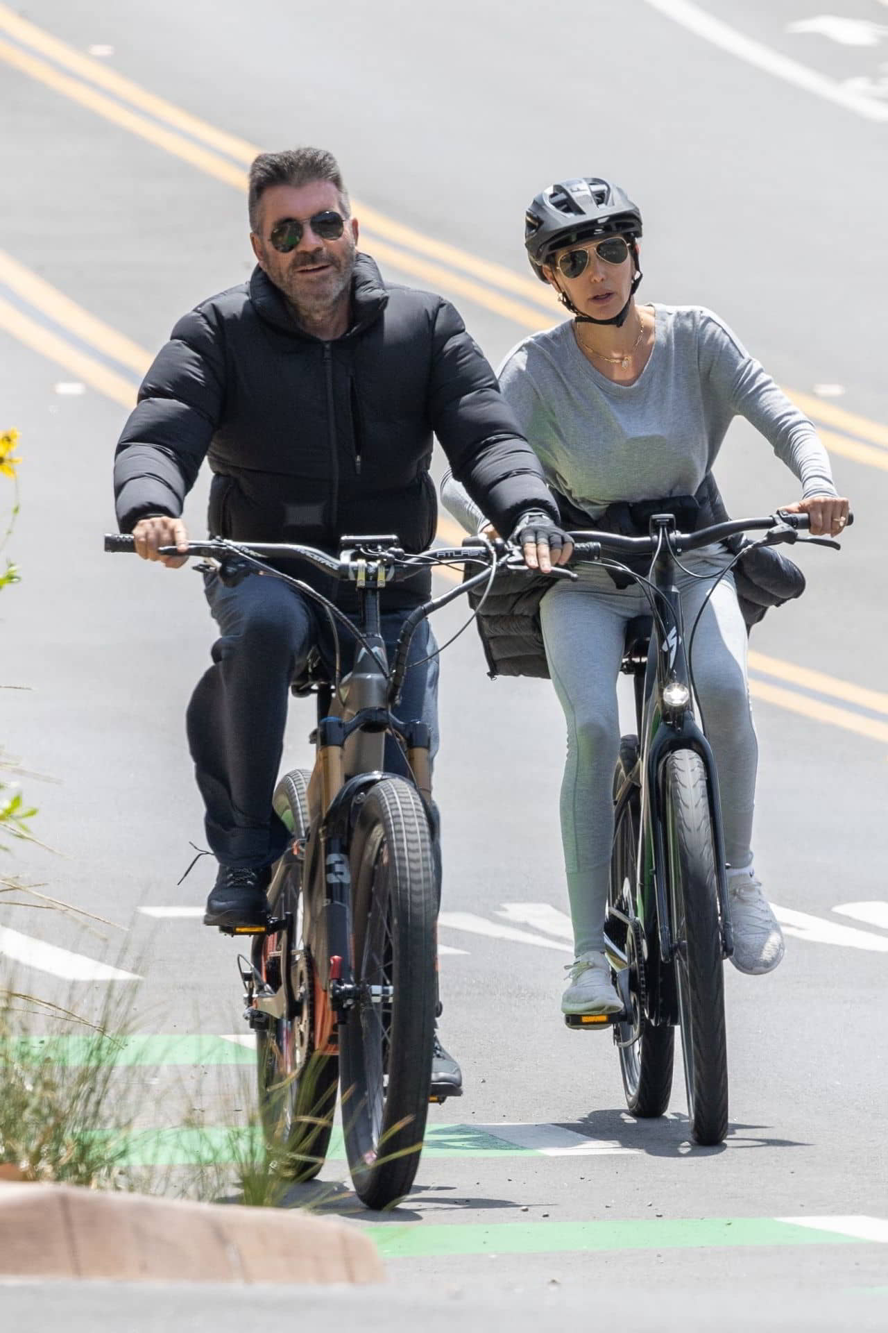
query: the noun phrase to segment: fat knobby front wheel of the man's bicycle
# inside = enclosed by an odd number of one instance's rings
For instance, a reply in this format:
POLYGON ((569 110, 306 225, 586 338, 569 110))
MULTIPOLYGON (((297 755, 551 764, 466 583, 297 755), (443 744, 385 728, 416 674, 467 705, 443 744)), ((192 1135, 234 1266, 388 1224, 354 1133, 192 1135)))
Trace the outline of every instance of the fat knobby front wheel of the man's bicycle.
POLYGON ((410 782, 370 789, 350 864, 358 1001, 339 1026, 345 1149, 358 1197, 387 1208, 419 1165, 435 1016, 435 862, 410 782))

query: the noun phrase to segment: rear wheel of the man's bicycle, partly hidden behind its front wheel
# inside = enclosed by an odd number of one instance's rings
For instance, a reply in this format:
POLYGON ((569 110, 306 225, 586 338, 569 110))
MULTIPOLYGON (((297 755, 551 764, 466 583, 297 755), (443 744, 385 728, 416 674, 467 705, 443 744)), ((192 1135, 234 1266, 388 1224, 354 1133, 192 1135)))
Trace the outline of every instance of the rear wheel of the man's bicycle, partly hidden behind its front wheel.
MULTIPOLYGON (((274 792, 274 809, 294 838, 308 832, 308 773, 288 773, 274 792)), ((257 1032, 258 1101, 262 1130, 278 1170, 293 1180, 312 1180, 321 1170, 330 1144, 338 1061, 316 1049, 316 980, 310 950, 302 937, 301 862, 274 876, 269 897, 273 917, 290 913, 286 930, 265 936, 256 964, 264 981, 280 992, 284 969, 289 988, 280 1018, 257 1032), (289 989, 289 996, 288 996, 289 989)))

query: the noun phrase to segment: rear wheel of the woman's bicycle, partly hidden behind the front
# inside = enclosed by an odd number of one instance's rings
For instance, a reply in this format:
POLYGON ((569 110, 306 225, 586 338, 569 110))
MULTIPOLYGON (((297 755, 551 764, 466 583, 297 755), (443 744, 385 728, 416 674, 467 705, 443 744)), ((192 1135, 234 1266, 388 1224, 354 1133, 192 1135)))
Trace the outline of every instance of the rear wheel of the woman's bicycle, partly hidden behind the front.
MULTIPOLYGON (((614 798, 638 762, 638 737, 623 736, 614 770, 614 798)), ((640 821, 640 790, 636 786, 623 805, 614 828, 611 853, 611 886, 608 908, 622 916, 636 914, 635 886, 638 884, 638 838, 640 821)), ((675 1029, 654 1025, 644 1014, 646 974, 640 922, 636 929, 620 917, 608 917, 608 934, 624 940, 630 966, 631 1021, 616 1024, 614 1040, 619 1046, 620 1074, 626 1105, 639 1120, 663 1116, 672 1092, 672 1064, 675 1058, 675 1029), (612 924, 611 924, 612 922, 612 924)))

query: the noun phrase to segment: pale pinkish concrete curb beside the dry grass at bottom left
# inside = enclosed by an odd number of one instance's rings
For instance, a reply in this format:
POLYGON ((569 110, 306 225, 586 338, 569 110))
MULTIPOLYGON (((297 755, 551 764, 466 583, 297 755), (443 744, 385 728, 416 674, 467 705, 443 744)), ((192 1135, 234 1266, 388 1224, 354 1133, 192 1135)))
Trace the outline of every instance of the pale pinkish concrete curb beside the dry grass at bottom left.
POLYGON ((75 1185, 0 1189, 0 1274, 126 1282, 383 1282, 373 1241, 333 1217, 75 1185))

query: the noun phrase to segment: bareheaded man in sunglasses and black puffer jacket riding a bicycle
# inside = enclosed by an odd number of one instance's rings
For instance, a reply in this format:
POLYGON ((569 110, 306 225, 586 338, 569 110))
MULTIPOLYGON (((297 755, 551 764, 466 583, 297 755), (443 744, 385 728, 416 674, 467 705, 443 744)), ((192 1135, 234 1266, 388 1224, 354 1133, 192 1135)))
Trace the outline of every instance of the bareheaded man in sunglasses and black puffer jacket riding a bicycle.
MULTIPOLYGON (((498 531, 519 531, 529 563, 547 571, 550 548, 560 559, 558 508, 493 371, 453 305, 386 284, 358 253, 334 157, 314 148, 261 153, 249 173, 249 223, 252 277, 178 321, 117 445, 117 519, 138 555, 185 563, 158 548, 185 549, 180 515, 205 457, 216 536, 338 552, 343 535, 390 532, 421 551, 435 532, 434 432, 498 531)), ((290 561, 286 572, 346 613, 357 609, 353 591, 312 567, 290 561)), ((429 577, 385 591, 389 649, 427 597, 429 577)), ((249 576, 229 587, 213 572, 205 589, 220 637, 188 709, 218 861, 204 920, 261 925, 272 865, 288 842, 272 794, 289 685, 312 649, 329 661, 332 640, 317 605, 280 580, 249 576)), ((429 724, 433 753, 434 651, 426 627, 414 640, 401 708, 429 724)), ((405 772, 391 738, 386 765, 405 772)), ((455 1062, 441 1052, 438 1072, 441 1061, 459 1084, 455 1062)))

